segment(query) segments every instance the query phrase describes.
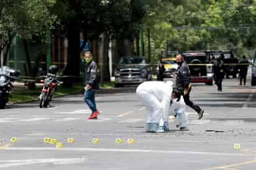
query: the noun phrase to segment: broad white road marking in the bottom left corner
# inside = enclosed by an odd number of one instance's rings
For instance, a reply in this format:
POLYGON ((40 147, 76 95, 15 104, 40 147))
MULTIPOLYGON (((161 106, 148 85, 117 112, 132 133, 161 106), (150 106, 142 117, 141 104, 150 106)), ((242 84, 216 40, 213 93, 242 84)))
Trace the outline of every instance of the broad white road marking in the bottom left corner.
POLYGON ((62 158, 62 159, 18 159, 0 161, 0 168, 9 168, 14 166, 25 166, 30 164, 80 164, 85 163, 85 158, 62 158))

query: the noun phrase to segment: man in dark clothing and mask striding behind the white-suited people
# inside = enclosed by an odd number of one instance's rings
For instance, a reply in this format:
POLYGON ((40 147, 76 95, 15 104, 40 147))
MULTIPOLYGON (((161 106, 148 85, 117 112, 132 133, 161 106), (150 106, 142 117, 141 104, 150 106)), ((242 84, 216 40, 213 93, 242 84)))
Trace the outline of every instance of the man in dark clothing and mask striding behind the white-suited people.
POLYGON ((198 113, 198 120, 203 117, 204 110, 199 107, 199 105, 193 104, 190 101, 191 83, 190 83, 190 69, 184 57, 182 55, 176 56, 176 62, 178 63, 177 77, 176 77, 176 89, 180 91, 180 94, 184 98, 186 105, 190 106, 198 113))

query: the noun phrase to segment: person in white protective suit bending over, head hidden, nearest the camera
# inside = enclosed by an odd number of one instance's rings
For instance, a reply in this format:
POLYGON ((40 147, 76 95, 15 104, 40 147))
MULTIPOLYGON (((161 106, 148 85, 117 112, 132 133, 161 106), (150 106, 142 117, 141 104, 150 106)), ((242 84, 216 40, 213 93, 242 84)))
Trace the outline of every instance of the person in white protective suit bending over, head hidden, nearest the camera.
POLYGON ((137 87, 136 93, 145 105, 147 112, 147 132, 168 131, 168 116, 170 109, 173 83, 167 81, 147 81, 137 87))

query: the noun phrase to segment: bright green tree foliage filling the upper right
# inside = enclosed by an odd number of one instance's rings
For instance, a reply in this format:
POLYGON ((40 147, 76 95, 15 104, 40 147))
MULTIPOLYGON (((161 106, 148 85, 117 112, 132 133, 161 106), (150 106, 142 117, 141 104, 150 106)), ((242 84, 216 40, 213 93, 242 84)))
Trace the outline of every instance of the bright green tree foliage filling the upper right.
POLYGON ((152 32, 155 60, 165 50, 231 49, 241 55, 255 48, 256 1, 147 0, 146 4, 144 27, 152 32))

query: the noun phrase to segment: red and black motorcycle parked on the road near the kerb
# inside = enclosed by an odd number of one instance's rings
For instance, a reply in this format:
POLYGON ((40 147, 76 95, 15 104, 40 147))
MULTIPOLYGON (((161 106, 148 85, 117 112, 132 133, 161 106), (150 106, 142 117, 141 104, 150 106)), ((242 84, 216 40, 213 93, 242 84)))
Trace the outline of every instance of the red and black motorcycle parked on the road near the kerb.
POLYGON ((41 78, 45 78, 41 80, 43 82, 43 89, 40 94, 40 108, 47 107, 50 101, 52 101, 53 94, 57 89, 58 84, 58 76, 55 74, 48 73, 47 76, 41 76, 41 78))

